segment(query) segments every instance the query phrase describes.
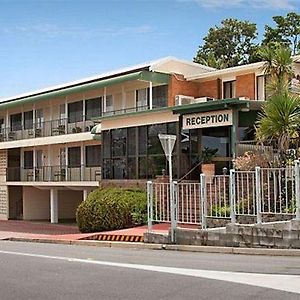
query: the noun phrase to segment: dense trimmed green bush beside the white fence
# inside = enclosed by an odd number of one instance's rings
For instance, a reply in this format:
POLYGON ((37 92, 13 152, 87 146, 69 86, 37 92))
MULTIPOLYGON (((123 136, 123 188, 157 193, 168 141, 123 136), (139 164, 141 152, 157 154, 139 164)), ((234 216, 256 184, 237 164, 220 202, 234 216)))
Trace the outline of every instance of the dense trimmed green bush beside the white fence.
POLYGON ((144 191, 109 188, 91 192, 76 212, 81 232, 97 232, 141 225, 147 221, 144 191))

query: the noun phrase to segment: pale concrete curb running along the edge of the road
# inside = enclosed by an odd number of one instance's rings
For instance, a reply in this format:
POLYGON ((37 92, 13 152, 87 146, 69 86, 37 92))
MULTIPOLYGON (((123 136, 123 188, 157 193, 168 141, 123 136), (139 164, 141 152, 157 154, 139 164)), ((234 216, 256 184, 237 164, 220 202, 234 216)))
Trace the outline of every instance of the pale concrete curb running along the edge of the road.
POLYGON ((94 247, 104 247, 104 248, 169 250, 169 251, 186 251, 186 252, 198 252, 198 253, 296 256, 296 257, 299 256, 300 257, 300 249, 234 248, 234 247, 148 244, 148 243, 140 243, 140 242, 136 243, 136 242, 95 241, 95 240, 67 240, 66 241, 66 240, 13 238, 13 237, 6 239, 6 241, 77 245, 77 246, 94 246, 94 247))

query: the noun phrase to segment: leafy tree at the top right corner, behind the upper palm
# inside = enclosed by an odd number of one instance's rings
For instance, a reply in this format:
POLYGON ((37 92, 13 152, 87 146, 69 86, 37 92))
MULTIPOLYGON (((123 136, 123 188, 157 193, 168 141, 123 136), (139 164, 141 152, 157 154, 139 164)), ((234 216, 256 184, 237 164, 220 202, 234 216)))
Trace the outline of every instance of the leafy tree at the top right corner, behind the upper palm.
POLYGON ((262 44, 281 43, 291 48, 293 55, 300 49, 300 15, 290 12, 283 16, 273 17, 275 27, 265 26, 264 40, 262 44))

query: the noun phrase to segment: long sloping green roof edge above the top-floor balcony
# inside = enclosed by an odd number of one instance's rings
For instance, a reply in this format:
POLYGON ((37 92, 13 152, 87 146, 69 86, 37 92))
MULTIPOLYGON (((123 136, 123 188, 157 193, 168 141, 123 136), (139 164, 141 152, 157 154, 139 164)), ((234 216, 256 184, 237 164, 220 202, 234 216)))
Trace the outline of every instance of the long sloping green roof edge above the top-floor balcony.
POLYGON ((19 99, 4 101, 0 103, 0 110, 16 107, 23 104, 34 103, 42 100, 49 100, 51 98, 65 97, 73 93, 82 93, 85 91, 109 87, 109 86, 113 86, 127 81, 133 81, 133 80, 147 81, 147 82, 153 82, 159 84, 168 84, 169 75, 164 73, 158 73, 158 72, 140 71, 140 72, 117 76, 109 79, 99 80, 96 82, 83 83, 71 87, 64 87, 62 89, 44 92, 39 95, 26 96, 19 99))

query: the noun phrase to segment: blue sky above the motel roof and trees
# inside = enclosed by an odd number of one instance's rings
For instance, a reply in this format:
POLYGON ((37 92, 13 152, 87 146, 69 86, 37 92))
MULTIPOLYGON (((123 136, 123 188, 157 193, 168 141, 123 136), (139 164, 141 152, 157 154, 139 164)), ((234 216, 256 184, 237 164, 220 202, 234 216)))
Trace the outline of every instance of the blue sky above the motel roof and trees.
POLYGON ((175 56, 225 18, 299 13, 300 0, 0 0, 0 98, 175 56))

